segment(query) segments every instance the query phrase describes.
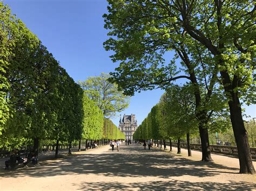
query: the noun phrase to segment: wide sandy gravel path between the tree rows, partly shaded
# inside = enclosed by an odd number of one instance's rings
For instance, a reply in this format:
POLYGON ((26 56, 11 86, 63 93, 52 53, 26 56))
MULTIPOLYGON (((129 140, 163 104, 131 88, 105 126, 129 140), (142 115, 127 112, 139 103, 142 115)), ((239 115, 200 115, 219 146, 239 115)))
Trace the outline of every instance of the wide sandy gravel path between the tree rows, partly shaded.
POLYGON ((214 163, 209 163, 200 161, 198 151, 189 158, 182 152, 143 150, 139 144, 112 152, 103 146, 35 167, 1 169, 0 190, 256 189, 256 175, 239 174, 237 158, 213 154, 214 163))

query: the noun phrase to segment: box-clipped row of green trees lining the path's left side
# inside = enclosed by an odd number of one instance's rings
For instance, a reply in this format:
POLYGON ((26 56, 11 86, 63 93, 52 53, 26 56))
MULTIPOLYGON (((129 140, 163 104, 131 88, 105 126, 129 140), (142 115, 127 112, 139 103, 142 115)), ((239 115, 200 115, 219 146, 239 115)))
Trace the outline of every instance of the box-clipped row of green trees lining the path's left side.
MULTIPOLYGON (((41 41, 0 3, 0 147, 112 139, 103 111, 41 41)), ((114 129, 114 130, 113 130, 114 129)), ((116 130, 115 138, 122 138, 116 130)))

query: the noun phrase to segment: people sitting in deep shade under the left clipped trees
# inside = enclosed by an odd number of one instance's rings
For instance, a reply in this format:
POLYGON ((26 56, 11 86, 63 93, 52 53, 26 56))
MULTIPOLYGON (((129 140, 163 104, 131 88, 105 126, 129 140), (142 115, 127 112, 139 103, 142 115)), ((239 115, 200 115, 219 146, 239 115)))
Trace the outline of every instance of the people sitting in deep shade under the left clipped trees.
POLYGON ((5 161, 5 169, 9 169, 9 166, 14 168, 17 164, 23 164, 25 166, 29 162, 32 162, 34 165, 37 164, 37 154, 34 150, 31 150, 28 155, 22 158, 19 151, 15 149, 10 152, 10 159, 5 161))

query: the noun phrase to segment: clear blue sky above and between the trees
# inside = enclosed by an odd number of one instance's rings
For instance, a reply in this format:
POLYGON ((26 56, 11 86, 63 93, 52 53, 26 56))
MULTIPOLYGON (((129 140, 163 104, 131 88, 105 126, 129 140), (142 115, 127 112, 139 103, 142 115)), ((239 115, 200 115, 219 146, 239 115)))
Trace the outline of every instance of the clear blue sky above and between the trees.
MULTIPOLYGON (((75 81, 109 73, 118 66, 110 60, 111 52, 103 48, 108 38, 102 18, 107 12, 105 0, 6 0, 4 3, 75 81)), ((120 114, 135 114, 140 124, 163 93, 160 89, 136 93, 129 108, 120 114)), ((246 114, 256 117, 255 105, 246 107, 246 114)), ((112 121, 118 125, 119 117, 112 121)))

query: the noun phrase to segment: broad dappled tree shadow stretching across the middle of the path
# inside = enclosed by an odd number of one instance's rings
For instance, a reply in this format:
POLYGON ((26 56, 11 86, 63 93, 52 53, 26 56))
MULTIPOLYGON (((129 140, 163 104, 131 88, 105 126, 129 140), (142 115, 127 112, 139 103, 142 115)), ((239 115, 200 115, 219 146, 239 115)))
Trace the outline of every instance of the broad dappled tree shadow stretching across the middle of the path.
POLYGON ((120 152, 110 149, 101 154, 75 154, 56 160, 45 160, 38 166, 21 168, 17 171, 1 171, 0 176, 18 178, 21 176, 49 177, 66 174, 101 174, 106 176, 141 177, 191 175, 197 177, 234 173, 237 168, 212 162, 176 158, 157 148, 143 150, 139 146, 124 146, 120 152))

